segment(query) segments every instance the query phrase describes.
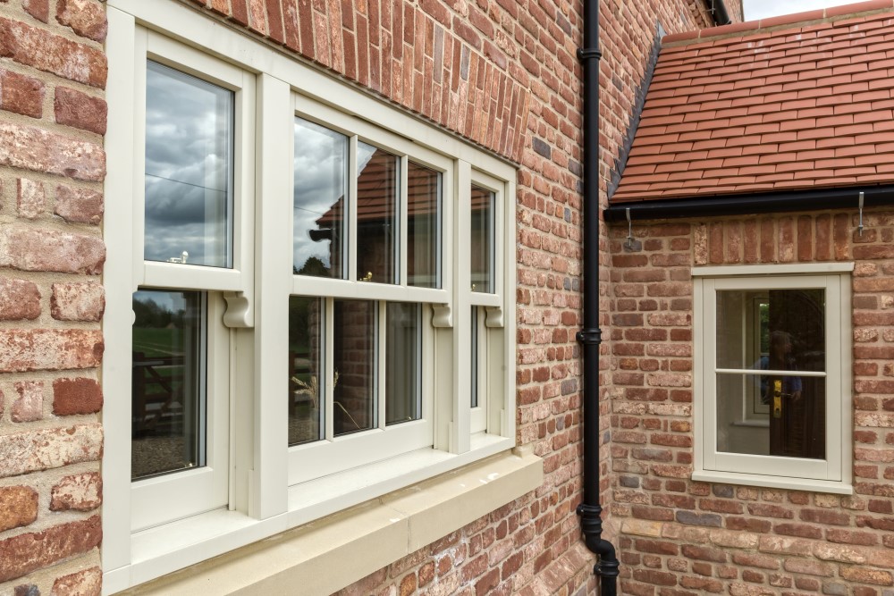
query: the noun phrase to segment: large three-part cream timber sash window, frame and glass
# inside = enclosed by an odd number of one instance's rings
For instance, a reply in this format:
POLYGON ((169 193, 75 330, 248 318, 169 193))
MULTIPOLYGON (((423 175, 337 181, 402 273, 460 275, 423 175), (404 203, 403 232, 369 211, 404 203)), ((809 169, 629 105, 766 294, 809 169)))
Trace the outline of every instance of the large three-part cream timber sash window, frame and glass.
MULTIPOLYGON (((419 483, 444 533, 535 488, 514 166, 188 5, 107 6, 104 591, 419 483)), ((436 539, 391 527, 377 557, 436 539)))

